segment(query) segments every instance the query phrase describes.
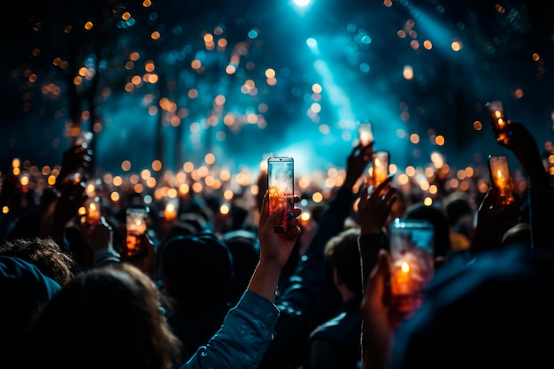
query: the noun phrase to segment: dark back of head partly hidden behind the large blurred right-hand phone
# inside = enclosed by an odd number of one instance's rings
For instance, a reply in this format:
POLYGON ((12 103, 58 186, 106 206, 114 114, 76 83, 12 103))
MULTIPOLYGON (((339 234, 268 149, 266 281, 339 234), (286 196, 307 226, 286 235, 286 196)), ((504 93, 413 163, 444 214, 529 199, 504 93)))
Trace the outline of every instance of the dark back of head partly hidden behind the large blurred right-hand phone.
POLYGON ((404 212, 404 219, 428 220, 433 224, 435 258, 445 258, 450 251, 450 227, 446 214, 435 205, 412 204, 404 212))

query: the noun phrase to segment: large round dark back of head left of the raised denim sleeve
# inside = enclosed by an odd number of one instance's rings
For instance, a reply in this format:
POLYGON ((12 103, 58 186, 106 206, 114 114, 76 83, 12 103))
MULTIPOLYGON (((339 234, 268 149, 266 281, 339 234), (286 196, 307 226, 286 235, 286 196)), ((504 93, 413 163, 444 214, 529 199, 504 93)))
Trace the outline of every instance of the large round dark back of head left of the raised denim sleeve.
POLYGON ((216 234, 175 236, 159 252, 165 291, 179 307, 203 311, 227 304, 233 258, 216 234))

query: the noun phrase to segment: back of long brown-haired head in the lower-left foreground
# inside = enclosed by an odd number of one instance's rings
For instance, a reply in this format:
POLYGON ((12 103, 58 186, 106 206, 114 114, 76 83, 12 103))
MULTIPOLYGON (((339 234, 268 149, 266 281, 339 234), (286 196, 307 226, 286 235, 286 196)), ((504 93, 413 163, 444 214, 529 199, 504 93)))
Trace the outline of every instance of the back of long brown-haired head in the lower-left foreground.
POLYGON ((35 321, 23 368, 171 368, 175 336, 158 289, 129 264, 77 274, 35 321))

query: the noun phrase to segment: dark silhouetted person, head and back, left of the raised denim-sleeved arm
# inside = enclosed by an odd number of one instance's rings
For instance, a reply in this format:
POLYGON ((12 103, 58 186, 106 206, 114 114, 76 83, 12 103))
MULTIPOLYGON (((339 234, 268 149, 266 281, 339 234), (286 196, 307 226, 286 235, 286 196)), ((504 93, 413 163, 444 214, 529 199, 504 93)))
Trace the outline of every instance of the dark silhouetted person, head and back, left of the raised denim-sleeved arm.
POLYGON ((158 252, 158 285, 170 299, 167 321, 181 340, 186 361, 217 332, 231 308, 234 259, 212 232, 175 236, 158 252))

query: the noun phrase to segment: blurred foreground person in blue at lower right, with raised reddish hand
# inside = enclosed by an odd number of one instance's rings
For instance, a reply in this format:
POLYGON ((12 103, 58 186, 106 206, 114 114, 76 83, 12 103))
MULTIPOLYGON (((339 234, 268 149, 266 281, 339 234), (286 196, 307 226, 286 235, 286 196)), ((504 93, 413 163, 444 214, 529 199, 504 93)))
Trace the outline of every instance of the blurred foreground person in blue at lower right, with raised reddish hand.
POLYGON ((554 282, 553 254, 512 243, 438 270, 419 311, 395 326, 382 302, 389 278, 382 250, 363 303, 363 367, 542 367, 554 327, 545 293, 554 282))

